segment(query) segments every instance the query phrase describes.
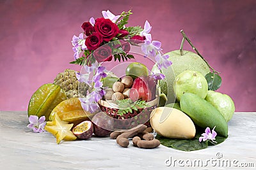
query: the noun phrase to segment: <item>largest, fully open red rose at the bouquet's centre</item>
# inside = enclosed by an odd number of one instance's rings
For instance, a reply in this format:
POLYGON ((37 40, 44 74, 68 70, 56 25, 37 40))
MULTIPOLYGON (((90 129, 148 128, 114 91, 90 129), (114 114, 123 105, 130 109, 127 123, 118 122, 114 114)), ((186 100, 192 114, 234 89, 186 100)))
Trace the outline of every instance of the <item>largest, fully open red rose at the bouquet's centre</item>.
POLYGON ((102 35, 104 41, 110 41, 118 34, 118 26, 111 20, 97 18, 94 25, 95 31, 102 35))

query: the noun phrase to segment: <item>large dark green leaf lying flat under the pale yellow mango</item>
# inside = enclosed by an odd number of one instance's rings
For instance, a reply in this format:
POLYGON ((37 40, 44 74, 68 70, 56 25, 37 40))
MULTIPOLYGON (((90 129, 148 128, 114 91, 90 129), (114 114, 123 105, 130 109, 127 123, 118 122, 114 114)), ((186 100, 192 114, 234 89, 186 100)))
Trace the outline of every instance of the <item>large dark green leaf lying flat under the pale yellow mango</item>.
POLYGON ((156 139, 158 139, 161 142, 161 145, 164 145, 168 148, 173 148, 176 150, 182 150, 182 151, 193 151, 193 150, 202 150, 207 148, 208 146, 211 145, 218 145, 225 141, 225 137, 222 136, 216 136, 216 142, 217 143, 212 143, 211 141, 202 141, 201 143, 199 142, 199 138, 201 134, 204 132, 203 129, 200 129, 196 127, 196 135, 195 138, 193 139, 171 139, 171 138, 165 138, 163 136, 159 136, 157 134, 156 139))

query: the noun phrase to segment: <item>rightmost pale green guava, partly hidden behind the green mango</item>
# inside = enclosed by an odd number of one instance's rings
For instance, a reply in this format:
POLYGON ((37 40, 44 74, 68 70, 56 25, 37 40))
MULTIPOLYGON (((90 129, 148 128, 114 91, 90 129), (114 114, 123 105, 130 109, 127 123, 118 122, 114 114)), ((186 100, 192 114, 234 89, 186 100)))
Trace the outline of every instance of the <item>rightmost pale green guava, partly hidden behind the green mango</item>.
POLYGON ((221 115, 223 115, 227 122, 233 117, 235 104, 227 94, 221 94, 220 92, 209 90, 205 100, 220 111, 221 115))

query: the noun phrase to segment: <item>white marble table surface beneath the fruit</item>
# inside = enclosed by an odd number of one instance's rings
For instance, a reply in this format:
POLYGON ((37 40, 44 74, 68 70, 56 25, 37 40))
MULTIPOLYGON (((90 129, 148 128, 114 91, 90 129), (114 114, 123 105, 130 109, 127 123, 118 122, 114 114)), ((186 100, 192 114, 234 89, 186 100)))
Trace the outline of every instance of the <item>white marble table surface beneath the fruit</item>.
POLYGON ((256 113, 235 113, 225 142, 181 152, 163 145, 122 148, 113 139, 95 137, 57 145, 52 134, 26 127, 26 111, 1 111, 0 169, 255 169, 255 124, 256 113))

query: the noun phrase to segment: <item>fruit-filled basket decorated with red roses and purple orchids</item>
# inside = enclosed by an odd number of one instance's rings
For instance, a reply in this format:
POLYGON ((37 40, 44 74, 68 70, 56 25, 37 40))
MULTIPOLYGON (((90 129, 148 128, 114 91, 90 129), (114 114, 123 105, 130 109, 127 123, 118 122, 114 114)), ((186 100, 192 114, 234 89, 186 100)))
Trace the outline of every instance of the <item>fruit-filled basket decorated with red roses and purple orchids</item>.
POLYGON ((131 14, 102 11, 104 18, 90 18, 82 25, 84 32, 72 39, 75 60, 71 63, 83 66, 77 80, 90 87, 90 92, 79 90, 81 106, 90 113, 107 113, 113 118, 113 129, 150 126, 150 113, 159 101, 157 80, 164 75, 145 64, 159 69, 172 64, 161 53, 161 43, 152 41, 148 21, 143 29, 125 26, 131 14))

